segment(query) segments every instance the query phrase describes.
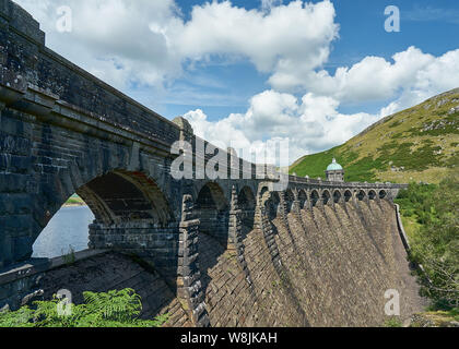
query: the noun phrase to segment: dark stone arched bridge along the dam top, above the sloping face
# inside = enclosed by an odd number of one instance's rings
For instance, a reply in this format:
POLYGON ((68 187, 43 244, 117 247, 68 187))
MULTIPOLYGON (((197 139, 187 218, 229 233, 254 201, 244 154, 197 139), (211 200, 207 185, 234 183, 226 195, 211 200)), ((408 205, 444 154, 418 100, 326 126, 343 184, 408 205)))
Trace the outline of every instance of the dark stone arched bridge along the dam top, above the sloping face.
MULTIPOLYGON (((287 224, 290 214, 304 210, 390 202, 402 188, 289 177, 287 188, 276 192, 270 189, 275 179, 257 178, 257 165, 231 152, 224 170, 244 179, 176 180, 170 176, 178 156, 170 152, 173 143, 207 145, 186 120, 162 118, 49 50, 38 23, 10 0, 0 1, 0 111, 4 275, 27 263, 42 230, 78 193, 95 215, 90 248, 150 261, 176 286, 197 325, 209 323, 199 267, 201 233, 237 256, 250 285, 257 276, 247 268, 243 241, 254 229, 269 241, 275 217, 287 224)), ((271 252, 275 262, 279 253, 271 252)), ((11 280, 0 277, 0 308, 27 292, 11 280)))

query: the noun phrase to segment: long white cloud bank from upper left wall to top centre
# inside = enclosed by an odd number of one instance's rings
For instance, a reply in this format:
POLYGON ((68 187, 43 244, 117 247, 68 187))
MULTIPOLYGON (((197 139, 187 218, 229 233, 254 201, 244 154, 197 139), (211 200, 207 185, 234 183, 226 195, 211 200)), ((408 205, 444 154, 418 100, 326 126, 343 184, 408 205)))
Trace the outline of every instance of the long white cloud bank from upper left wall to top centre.
POLYGON ((192 8, 185 21, 174 0, 17 0, 42 23, 51 48, 123 87, 129 83, 162 87, 184 64, 212 57, 248 59, 261 72, 301 65, 320 67, 337 37, 334 8, 313 3, 263 1, 246 10, 231 1, 192 8), (56 31, 60 5, 72 10, 71 33, 56 31))

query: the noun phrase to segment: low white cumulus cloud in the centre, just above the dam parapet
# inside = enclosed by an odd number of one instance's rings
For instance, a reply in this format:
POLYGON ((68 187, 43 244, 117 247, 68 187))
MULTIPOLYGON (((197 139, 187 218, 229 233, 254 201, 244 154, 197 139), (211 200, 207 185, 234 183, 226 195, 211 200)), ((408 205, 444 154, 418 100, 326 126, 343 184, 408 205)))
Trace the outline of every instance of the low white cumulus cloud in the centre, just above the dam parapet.
POLYGON ((368 113, 343 115, 338 107, 339 101, 331 97, 308 93, 298 100, 290 94, 266 91, 251 98, 245 113, 212 122, 198 109, 185 118, 198 136, 223 148, 232 146, 242 156, 242 149, 259 149, 267 142, 279 144, 289 140, 291 164, 305 154, 348 141, 380 118, 368 113))

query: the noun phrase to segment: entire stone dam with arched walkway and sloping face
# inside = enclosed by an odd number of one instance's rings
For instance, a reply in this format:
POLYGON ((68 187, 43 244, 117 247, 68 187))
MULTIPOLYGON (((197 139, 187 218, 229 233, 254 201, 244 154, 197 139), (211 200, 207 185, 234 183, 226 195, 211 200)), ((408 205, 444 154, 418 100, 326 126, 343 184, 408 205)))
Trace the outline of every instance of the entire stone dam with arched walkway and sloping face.
POLYGON ((0 0, 0 310, 123 288, 166 326, 378 326, 388 290, 402 320, 422 310, 393 205, 404 185, 289 176, 276 190, 282 176, 232 149, 220 149, 227 179, 201 178, 213 160, 201 143, 184 118, 48 49, 0 0), (192 144, 192 179, 172 176, 176 141, 192 144), (73 193, 95 216, 90 249, 72 264, 31 258, 73 193))

